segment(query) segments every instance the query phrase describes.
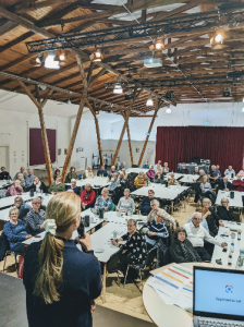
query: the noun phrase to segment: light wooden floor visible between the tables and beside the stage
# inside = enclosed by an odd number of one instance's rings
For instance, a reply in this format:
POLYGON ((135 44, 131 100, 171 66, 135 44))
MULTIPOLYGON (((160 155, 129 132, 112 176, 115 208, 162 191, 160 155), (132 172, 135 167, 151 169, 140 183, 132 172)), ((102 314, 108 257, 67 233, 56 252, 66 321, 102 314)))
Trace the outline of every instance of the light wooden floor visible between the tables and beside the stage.
MULTIPOLYGON (((190 199, 190 204, 186 204, 186 208, 181 208, 180 211, 174 213, 174 218, 179 221, 180 226, 187 222, 188 218, 196 209, 196 204, 194 204, 193 198, 190 199)), ((0 271, 2 271, 3 263, 0 263, 0 271)), ((14 269, 14 257, 10 256, 7 259, 7 274, 16 277, 14 269)), ((146 280, 144 280, 145 282, 146 280)), ((138 290, 139 282, 137 287, 135 284, 126 284, 120 287, 117 284, 117 275, 109 274, 107 278, 107 301, 102 304, 101 299, 97 299, 96 303, 114 310, 117 312, 137 317, 147 322, 151 322, 150 317, 143 304, 142 293, 138 290)))

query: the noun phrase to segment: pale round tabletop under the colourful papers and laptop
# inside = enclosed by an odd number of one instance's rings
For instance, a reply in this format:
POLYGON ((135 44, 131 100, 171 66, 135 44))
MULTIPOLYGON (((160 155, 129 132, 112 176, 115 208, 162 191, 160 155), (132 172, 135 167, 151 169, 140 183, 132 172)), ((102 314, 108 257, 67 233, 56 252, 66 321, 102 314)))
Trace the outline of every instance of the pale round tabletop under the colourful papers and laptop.
MULTIPOLYGON (((157 275, 158 272, 162 271, 163 269, 172 265, 173 264, 160 267, 154 270, 154 272, 155 275, 157 275)), ((215 267, 215 265, 206 264, 206 263, 185 263, 181 265, 188 269, 193 269, 193 266, 215 267)), ((159 327, 193 326, 193 316, 191 313, 187 313, 185 310, 175 305, 167 305, 159 298, 156 291, 147 284, 147 282, 145 283, 143 289, 143 303, 151 320, 159 327)))

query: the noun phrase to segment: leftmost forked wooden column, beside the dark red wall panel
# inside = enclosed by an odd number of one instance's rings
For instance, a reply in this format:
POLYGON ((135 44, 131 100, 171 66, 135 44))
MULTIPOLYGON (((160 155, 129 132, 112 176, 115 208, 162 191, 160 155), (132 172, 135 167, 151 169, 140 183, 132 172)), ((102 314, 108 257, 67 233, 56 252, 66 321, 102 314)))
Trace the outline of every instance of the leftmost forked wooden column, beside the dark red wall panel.
MULTIPOLYGON (((42 144, 44 144, 44 155, 45 155, 45 161, 46 161, 47 174, 48 174, 48 183, 49 183, 49 185, 51 185, 53 183, 51 158, 50 158, 50 150, 49 150, 49 145, 48 145, 47 131, 46 131, 46 125, 45 125, 45 120, 44 120, 44 110, 42 110, 44 106, 47 102, 47 99, 42 100, 41 102, 38 102, 37 99, 34 97, 34 95, 32 94, 32 92, 28 89, 28 87, 22 81, 19 81, 19 83, 38 109, 40 130, 41 130, 41 140, 42 140, 42 144)), ((52 89, 49 90, 48 95, 51 95, 52 92, 53 92, 52 89)))

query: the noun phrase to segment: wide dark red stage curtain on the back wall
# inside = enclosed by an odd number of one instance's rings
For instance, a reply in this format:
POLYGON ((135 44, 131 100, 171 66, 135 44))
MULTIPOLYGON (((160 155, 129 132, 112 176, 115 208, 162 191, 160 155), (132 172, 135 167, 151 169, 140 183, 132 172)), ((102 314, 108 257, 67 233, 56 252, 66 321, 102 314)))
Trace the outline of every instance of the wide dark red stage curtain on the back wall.
POLYGON ((235 172, 242 168, 244 155, 243 128, 158 128, 156 162, 169 162, 176 171, 179 162, 191 161, 193 156, 210 159, 220 165, 220 171, 233 166, 235 172))

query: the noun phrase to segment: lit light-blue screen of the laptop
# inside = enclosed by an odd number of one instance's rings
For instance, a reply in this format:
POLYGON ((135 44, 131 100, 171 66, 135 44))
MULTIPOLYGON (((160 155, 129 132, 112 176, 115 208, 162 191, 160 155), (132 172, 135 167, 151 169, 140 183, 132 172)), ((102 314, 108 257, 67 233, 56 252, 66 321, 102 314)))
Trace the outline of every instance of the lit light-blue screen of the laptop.
POLYGON ((195 270, 195 311, 244 315, 244 275, 195 270))

